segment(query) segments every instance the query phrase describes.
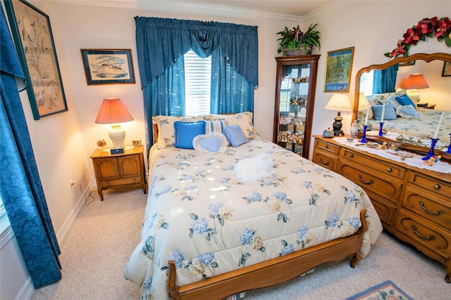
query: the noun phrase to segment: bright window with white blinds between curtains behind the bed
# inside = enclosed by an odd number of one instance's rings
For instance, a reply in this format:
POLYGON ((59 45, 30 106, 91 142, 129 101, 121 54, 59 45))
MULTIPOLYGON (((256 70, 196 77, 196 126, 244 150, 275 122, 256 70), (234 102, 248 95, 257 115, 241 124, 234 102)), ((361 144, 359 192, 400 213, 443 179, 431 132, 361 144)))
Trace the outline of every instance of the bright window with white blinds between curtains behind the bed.
POLYGON ((192 50, 185 53, 185 115, 210 113, 211 56, 199 58, 192 50))

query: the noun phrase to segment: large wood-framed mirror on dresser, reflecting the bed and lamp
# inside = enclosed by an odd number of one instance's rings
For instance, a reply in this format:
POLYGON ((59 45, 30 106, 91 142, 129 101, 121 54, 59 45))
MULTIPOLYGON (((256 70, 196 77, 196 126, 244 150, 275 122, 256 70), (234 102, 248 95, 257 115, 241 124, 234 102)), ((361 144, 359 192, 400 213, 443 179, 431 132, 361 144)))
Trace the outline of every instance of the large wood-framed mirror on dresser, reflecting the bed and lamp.
MULTIPOLYGON (((435 145, 435 154, 442 155, 444 160, 451 161, 451 154, 446 153, 448 145, 450 145, 451 133, 451 76, 450 70, 445 70, 445 62, 451 63, 451 54, 448 53, 418 53, 412 56, 395 58, 381 65, 370 65, 364 67, 357 72, 355 81, 355 100, 352 119, 357 119, 359 125, 364 124, 366 110, 358 110, 359 94, 362 92, 369 100, 371 108, 369 109, 369 127, 371 132, 367 132, 366 138, 371 141, 387 141, 401 143, 404 150, 410 150, 419 154, 427 153, 431 148, 431 138, 438 135, 438 143, 435 145), (393 67, 395 66, 395 67, 393 67), (373 74, 375 71, 388 70, 390 67, 397 68, 395 72, 396 93, 373 93, 372 85, 373 74), (424 74, 427 81, 427 89, 418 89, 411 91, 409 89, 400 89, 404 81, 410 74, 424 74), (414 92, 416 95, 414 95, 414 92), (393 98, 401 97, 407 93, 412 95, 412 105, 415 110, 406 112, 402 107, 406 107, 407 103, 401 103, 400 107, 397 103, 393 103, 395 116, 384 118, 383 136, 378 135, 379 121, 373 116, 373 105, 381 105, 393 101, 393 98), (419 95, 419 99, 417 99, 419 95), (391 98, 390 100, 388 98, 391 98), (379 102, 380 101, 380 102, 379 102), (442 117, 443 113, 443 118, 442 117), (437 130, 438 123, 442 122, 437 130)), ((450 67, 446 65, 446 67, 450 67)), ((376 75, 375 75, 376 76, 376 75)), ((377 108, 377 107, 374 107, 377 108)), ((391 109, 391 107, 390 107, 391 109)), ((384 109, 385 110, 385 109, 384 109)))

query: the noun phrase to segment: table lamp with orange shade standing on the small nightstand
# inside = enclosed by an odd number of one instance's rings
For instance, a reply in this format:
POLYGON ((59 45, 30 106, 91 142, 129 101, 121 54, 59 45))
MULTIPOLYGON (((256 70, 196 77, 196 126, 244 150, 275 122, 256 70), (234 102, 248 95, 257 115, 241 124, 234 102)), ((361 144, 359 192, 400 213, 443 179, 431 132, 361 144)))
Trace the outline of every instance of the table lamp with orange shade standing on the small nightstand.
POLYGON ((123 148, 125 141, 125 131, 121 128, 121 123, 133 121, 132 115, 119 98, 104 99, 97 113, 97 124, 111 124, 108 133, 113 148, 123 148))

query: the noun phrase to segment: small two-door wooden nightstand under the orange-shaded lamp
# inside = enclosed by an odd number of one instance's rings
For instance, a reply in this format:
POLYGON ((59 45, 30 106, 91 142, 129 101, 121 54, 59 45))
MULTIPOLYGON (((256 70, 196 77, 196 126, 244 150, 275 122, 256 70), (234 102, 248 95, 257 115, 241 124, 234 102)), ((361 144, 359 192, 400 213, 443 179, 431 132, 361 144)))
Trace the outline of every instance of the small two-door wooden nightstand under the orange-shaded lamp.
POLYGON ((147 193, 147 178, 144 167, 143 146, 125 147, 121 154, 111 155, 109 149, 97 149, 91 159, 97 181, 97 193, 104 201, 103 190, 141 186, 147 193))

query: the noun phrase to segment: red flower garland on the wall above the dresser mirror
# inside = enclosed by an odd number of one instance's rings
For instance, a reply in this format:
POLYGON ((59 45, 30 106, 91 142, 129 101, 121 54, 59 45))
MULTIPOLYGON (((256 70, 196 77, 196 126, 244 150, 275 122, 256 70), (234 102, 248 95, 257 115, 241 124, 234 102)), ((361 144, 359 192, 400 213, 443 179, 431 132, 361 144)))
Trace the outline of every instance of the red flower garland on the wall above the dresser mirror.
POLYGON ((402 35, 404 39, 397 41, 396 48, 391 52, 384 53, 388 58, 396 58, 397 56, 409 56, 409 48, 416 45, 418 41, 425 41, 426 37, 435 37, 438 41, 445 40, 445 45, 451 47, 451 20, 443 17, 438 19, 433 17, 431 19, 424 18, 419 20, 417 25, 407 29, 407 32, 402 35))

